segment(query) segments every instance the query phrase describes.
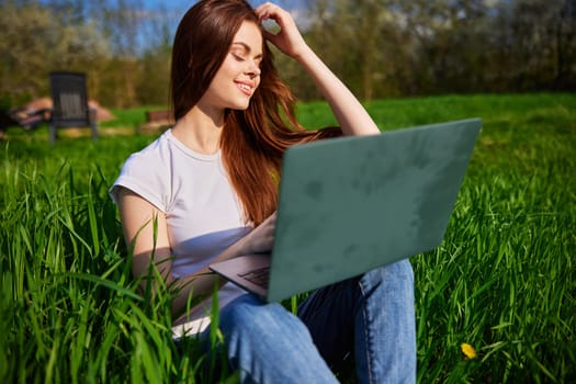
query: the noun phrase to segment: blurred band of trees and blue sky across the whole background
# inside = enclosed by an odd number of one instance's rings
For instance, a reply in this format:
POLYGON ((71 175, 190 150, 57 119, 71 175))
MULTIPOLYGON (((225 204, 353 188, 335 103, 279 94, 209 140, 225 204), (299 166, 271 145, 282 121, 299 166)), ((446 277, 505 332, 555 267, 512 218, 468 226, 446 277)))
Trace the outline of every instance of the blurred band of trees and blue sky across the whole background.
MULTIPOLYGON (((308 43, 363 100, 576 89, 576 0, 307 0, 298 12, 308 43)), ((180 16, 143 0, 1 1, 2 105, 46 95, 57 69, 88 72, 108 106, 165 105, 180 16)), ((294 60, 276 60, 296 95, 320 97, 294 60)))

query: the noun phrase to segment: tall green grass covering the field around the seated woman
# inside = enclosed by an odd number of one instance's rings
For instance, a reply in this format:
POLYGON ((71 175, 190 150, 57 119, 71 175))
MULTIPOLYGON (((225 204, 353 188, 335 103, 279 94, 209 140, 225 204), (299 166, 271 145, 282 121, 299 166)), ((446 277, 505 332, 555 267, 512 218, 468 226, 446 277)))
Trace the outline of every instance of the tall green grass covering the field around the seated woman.
MULTIPOLYGON (((366 108, 384 129, 484 121, 444 241, 411 259, 419 382, 575 381, 576 97, 447 95, 366 108), (476 358, 462 353, 463 342, 476 358)), ((138 124, 139 112, 123 113, 129 118, 109 126, 138 124)), ((303 104, 298 115, 310 128, 335 124, 325 103, 303 104)), ((153 296, 131 276, 108 189, 154 137, 65 136, 49 146, 45 127, 9 131, 0 147, 3 382, 235 381, 201 369, 195 340, 174 345, 170 287, 153 296)))

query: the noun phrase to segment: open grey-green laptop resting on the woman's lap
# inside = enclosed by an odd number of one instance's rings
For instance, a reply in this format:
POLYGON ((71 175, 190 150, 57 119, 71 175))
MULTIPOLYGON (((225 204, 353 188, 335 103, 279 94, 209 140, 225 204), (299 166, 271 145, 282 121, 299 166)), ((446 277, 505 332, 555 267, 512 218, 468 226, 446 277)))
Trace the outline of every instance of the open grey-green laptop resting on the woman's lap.
POLYGON ((481 126, 470 118, 289 148, 271 253, 211 270, 280 302, 437 248, 481 126))

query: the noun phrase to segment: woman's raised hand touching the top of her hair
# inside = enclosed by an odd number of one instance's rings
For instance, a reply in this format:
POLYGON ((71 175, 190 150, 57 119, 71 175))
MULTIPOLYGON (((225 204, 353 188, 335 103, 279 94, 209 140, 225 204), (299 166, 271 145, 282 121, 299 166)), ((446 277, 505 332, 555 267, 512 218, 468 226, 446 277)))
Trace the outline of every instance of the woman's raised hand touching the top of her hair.
POLYGON ((256 9, 260 21, 273 20, 280 26, 278 33, 263 30, 263 36, 284 54, 298 58, 309 49, 290 12, 270 2, 263 3, 256 9))

